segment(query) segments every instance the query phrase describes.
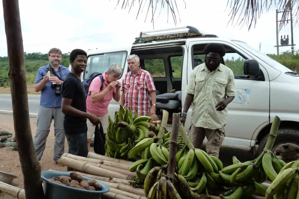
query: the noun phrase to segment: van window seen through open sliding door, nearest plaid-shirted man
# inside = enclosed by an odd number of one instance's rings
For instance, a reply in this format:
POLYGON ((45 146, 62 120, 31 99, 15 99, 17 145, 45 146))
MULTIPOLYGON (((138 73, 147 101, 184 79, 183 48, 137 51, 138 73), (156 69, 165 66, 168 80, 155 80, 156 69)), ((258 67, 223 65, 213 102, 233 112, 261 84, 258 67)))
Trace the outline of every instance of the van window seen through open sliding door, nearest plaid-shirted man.
POLYGON ((144 68, 152 77, 166 77, 164 60, 158 59, 144 59, 144 68))

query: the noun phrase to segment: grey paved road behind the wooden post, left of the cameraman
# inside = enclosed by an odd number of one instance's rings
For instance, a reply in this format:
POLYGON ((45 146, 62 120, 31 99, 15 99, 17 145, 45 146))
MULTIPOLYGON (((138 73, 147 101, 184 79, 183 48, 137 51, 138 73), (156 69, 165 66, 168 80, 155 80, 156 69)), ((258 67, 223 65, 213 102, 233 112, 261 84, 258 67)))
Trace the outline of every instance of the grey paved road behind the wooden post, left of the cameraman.
MULTIPOLYGON (((37 115, 39 109, 40 95, 28 95, 28 105, 30 115, 37 115)), ((12 112, 10 94, 0 94, 0 112, 12 112)))

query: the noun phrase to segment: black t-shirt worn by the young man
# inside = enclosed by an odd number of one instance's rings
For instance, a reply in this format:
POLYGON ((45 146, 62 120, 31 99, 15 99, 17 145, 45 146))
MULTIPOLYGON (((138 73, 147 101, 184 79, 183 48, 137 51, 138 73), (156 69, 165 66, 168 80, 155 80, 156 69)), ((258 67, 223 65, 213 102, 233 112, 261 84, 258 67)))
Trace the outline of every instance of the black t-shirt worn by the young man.
MULTIPOLYGON (((86 112, 84 88, 80 79, 71 72, 62 84, 62 98, 72 99, 72 107, 86 112)), ((86 118, 83 117, 65 114, 63 126, 66 134, 87 132, 86 118)))

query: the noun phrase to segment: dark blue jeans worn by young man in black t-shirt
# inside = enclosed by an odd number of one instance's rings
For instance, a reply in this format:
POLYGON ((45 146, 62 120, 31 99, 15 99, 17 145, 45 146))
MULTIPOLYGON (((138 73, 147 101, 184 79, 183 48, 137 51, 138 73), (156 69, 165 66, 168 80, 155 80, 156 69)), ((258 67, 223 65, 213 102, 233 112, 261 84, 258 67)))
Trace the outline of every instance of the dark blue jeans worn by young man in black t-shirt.
MULTIPOLYGON (((68 141, 68 153, 87 157, 88 146, 87 146, 87 132, 68 134, 65 133, 65 137, 68 141)), ((68 167, 68 171, 76 171, 73 168, 68 167)))

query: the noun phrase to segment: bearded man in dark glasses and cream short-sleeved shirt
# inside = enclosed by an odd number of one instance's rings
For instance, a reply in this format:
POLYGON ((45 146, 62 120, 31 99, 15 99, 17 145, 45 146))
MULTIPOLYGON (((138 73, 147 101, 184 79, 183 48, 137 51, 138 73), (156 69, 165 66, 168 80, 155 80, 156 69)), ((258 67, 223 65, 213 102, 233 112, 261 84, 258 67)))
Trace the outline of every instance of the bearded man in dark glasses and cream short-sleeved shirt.
POLYGON ((201 148, 205 136, 209 155, 219 157, 219 148, 224 140, 227 120, 227 105, 235 97, 234 74, 220 61, 226 50, 222 44, 205 46, 205 63, 191 73, 186 89, 184 109, 180 121, 185 123, 187 111, 192 104, 189 137, 196 148, 201 148))

